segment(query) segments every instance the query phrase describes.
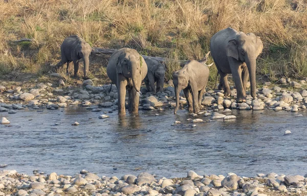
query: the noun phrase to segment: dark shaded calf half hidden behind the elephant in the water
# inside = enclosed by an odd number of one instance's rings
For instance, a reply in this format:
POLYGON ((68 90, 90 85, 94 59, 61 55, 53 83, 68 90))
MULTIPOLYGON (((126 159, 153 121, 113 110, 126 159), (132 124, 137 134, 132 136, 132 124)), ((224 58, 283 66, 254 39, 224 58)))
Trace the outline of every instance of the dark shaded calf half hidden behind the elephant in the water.
POLYGON ((166 66, 159 61, 151 59, 150 57, 146 57, 145 62, 148 68, 147 75, 144 79, 147 91, 151 92, 151 94, 163 92, 166 66), (155 88, 156 82, 157 88, 155 88))

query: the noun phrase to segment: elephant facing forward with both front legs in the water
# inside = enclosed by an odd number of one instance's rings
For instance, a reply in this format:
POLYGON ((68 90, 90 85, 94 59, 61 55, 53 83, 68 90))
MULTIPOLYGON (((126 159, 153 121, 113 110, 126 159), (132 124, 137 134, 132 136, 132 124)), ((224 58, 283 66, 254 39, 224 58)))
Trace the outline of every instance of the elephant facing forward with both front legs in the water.
POLYGON ((134 49, 121 48, 110 57, 106 74, 117 86, 118 115, 126 114, 126 90, 128 90, 128 110, 131 114, 138 115, 141 83, 147 74, 144 58, 134 49))

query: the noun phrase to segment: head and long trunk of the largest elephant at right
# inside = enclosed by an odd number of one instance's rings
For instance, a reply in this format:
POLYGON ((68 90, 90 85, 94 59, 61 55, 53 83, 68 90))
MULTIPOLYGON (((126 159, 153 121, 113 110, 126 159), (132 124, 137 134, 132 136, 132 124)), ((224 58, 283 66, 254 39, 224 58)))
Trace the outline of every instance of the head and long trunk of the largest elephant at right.
POLYGON ((245 34, 243 32, 230 39, 226 48, 228 57, 246 63, 249 71, 250 94, 252 97, 256 96, 256 58, 262 52, 262 49, 263 44, 260 37, 256 37, 253 33, 245 34))

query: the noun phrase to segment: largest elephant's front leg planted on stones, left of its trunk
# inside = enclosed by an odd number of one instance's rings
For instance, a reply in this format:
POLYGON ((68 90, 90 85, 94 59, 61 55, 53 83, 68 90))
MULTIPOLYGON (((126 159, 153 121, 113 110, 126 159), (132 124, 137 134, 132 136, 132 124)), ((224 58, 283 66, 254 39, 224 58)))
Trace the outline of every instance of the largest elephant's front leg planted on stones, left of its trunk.
POLYGON ((242 83, 242 69, 240 66, 230 66, 232 78, 234 80, 235 87, 237 89, 237 102, 246 102, 246 96, 243 93, 243 83, 242 83))

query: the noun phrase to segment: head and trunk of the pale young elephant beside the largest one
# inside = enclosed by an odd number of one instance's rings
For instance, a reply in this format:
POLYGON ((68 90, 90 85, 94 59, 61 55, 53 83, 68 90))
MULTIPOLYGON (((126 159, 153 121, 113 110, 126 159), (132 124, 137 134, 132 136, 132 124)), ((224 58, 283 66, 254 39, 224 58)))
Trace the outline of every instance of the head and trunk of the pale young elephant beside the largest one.
POLYGON ((185 70, 173 72, 173 84, 176 95, 176 107, 174 109, 174 114, 176 114, 177 110, 179 109, 179 93, 182 89, 185 89, 189 85, 189 78, 185 70))

